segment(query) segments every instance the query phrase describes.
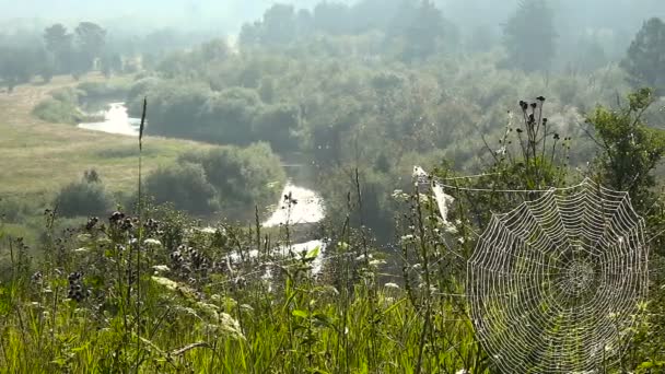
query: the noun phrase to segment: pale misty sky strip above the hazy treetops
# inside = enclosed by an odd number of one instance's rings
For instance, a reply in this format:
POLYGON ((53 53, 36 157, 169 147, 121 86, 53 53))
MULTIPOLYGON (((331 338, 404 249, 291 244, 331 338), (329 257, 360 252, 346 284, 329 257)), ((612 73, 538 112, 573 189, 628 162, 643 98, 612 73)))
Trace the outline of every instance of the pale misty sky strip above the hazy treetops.
MULTIPOLYGON (((483 25, 497 31, 517 1, 434 0, 444 16, 462 28, 483 25)), ((86 19, 118 30, 175 26, 231 34, 237 33, 243 23, 260 19, 267 8, 278 2, 312 8, 319 0, 0 0, 0 22, 16 28, 31 25, 38 28, 46 23, 74 24, 86 19)), ((329 2, 354 3, 355 0, 329 2)), ((607 27, 632 33, 645 17, 665 19, 665 0, 553 0, 550 3, 564 32, 607 27)))

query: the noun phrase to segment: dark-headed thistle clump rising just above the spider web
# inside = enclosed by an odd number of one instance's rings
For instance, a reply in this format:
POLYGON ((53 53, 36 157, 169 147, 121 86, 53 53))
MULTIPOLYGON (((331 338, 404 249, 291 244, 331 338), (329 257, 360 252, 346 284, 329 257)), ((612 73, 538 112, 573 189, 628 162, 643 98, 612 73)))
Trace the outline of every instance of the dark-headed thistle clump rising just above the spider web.
MULTIPOLYGON (((463 233, 462 253, 470 255, 477 237, 471 230, 483 230, 491 214, 506 211, 522 201, 538 198, 528 192, 482 192, 488 187, 495 190, 544 190, 567 187, 571 177, 570 153, 572 138, 558 132, 556 124, 546 117, 546 98, 538 96, 533 102, 521 101, 515 114, 511 114, 503 133, 495 140, 485 140, 489 154, 483 160, 485 167, 478 171, 479 177, 454 179, 455 187, 447 192, 456 199, 456 209, 452 210, 448 220, 456 220, 466 225, 463 233), (494 148, 493 144, 497 144, 494 148), (466 194, 464 188, 476 188, 479 192, 466 194), (466 233, 466 234, 465 234, 466 233)), ((443 165, 438 173, 442 178, 454 177, 450 165, 443 165)), ((457 230, 457 229, 456 229, 457 230)))

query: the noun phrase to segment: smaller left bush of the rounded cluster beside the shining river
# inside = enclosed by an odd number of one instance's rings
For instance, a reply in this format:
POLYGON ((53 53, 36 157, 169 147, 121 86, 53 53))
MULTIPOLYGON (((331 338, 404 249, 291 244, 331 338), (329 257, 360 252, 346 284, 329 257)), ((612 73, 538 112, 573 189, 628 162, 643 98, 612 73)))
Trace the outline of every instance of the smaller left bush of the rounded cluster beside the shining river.
POLYGON ((194 214, 209 214, 218 209, 215 190, 201 165, 180 162, 156 170, 145 180, 147 192, 155 203, 174 204, 194 214))

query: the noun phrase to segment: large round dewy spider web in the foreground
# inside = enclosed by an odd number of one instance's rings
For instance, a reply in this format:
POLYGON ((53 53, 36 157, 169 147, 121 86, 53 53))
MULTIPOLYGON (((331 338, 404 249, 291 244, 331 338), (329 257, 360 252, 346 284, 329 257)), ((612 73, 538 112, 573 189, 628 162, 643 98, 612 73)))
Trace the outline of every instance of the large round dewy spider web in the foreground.
POLYGON ((468 261, 478 340, 506 373, 594 373, 617 360, 648 291, 643 220, 590 179, 494 214, 468 261))

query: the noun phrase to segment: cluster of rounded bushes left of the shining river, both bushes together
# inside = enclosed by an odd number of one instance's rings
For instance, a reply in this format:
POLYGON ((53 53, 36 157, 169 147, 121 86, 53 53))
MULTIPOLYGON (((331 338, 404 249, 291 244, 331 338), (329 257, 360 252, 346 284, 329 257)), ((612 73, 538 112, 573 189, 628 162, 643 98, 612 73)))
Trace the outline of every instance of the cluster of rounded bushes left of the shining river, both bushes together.
POLYGON ((246 148, 218 147, 186 153, 173 166, 150 174, 147 195, 156 203, 209 215, 253 217, 254 207, 275 203, 285 182, 281 162, 266 143, 246 148))

